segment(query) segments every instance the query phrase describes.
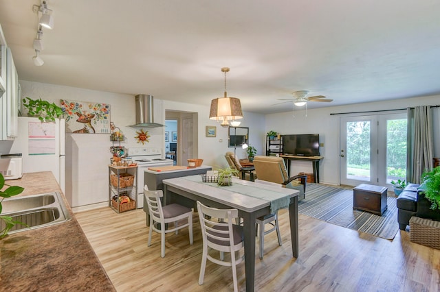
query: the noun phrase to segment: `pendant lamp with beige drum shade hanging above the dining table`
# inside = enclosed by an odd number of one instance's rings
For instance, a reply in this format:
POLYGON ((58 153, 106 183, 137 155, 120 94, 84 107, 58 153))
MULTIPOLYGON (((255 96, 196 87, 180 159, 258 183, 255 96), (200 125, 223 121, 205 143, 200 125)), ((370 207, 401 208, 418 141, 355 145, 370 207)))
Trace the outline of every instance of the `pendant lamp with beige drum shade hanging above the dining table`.
MULTIPOLYGON (((229 122, 236 119, 243 119, 243 112, 241 112, 240 99, 236 97, 228 97, 226 92, 226 73, 229 72, 228 67, 221 69, 221 72, 225 73, 225 93, 224 97, 212 99, 209 118, 215 121, 221 121, 222 127, 228 127, 229 122)), ((237 121, 237 123, 239 123, 237 121)), ((236 127, 236 123, 234 123, 236 127)))

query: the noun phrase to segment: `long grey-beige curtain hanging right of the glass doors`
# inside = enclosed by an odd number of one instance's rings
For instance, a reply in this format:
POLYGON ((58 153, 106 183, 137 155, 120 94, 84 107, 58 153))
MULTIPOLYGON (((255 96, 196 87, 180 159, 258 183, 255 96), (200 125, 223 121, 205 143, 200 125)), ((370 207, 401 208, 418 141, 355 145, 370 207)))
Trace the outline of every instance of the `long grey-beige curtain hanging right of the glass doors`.
POLYGON ((423 172, 432 170, 433 144, 431 107, 408 108, 407 182, 419 184, 423 172))

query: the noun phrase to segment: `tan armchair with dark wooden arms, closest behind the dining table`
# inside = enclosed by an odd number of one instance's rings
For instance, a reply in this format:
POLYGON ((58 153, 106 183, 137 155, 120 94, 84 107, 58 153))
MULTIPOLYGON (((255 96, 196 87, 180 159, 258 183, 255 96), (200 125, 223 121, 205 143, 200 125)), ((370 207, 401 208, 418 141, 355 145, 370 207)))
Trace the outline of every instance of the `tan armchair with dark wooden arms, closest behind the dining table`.
POLYGON ((289 178, 283 158, 275 156, 255 156, 254 167, 259 180, 281 184, 286 188, 300 191, 298 199, 305 198, 306 175, 295 175, 289 178))

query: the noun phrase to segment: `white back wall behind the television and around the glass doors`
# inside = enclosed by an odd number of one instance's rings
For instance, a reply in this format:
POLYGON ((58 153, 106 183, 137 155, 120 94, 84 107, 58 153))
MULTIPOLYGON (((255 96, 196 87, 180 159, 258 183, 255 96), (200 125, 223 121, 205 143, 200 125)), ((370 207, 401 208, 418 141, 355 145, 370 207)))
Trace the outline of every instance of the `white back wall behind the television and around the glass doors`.
MULTIPOLYGON (((324 143, 324 147, 320 147, 320 154, 324 156, 324 159, 320 162, 320 182, 339 184, 339 121, 341 117, 347 117, 347 114, 330 115, 331 113, 393 110, 407 108, 408 106, 434 106, 439 104, 439 98, 439 95, 435 95, 367 104, 353 104, 350 106, 319 108, 307 110, 307 117, 305 117, 305 110, 297 110, 298 108, 296 107, 294 113, 267 114, 265 116, 265 131, 274 130, 281 134, 319 134, 320 143, 324 143)), ((440 108, 432 108, 432 112, 434 118, 434 157, 439 157, 440 108)), ((351 115, 368 115, 368 113, 351 115)), ((300 171, 312 173, 311 164, 303 161, 292 162, 291 175, 300 171)))

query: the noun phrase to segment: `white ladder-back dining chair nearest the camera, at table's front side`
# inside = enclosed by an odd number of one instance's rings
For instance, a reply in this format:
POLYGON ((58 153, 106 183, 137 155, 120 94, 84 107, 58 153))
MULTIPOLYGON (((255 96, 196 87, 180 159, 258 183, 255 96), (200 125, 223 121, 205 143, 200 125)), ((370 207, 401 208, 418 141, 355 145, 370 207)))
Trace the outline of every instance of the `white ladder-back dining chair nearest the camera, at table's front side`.
POLYGON ((201 236, 203 239, 203 252, 201 257, 201 267, 199 284, 203 284, 205 276, 206 260, 210 260, 217 265, 232 267, 232 278, 234 280, 234 291, 238 291, 236 278, 236 265, 244 260, 243 256, 236 258, 235 252, 239 252, 243 245, 243 226, 232 224, 232 219, 239 215, 236 209, 217 209, 210 208, 197 201, 199 219, 201 225, 201 236), (213 218, 212 220, 208 218, 213 218), (218 221, 217 218, 227 221, 218 221), (214 258, 209 254, 209 248, 220 252, 220 259, 214 258), (230 262, 224 260, 223 253, 230 253, 230 262))

